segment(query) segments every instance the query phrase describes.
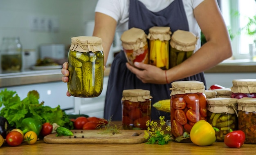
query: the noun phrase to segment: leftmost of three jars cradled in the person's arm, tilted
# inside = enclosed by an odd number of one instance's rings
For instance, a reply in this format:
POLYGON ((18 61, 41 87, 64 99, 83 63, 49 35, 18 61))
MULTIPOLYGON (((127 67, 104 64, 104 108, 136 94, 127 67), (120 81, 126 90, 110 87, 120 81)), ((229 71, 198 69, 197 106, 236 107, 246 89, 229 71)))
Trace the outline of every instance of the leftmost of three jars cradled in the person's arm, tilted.
POLYGON ((147 35, 142 29, 131 28, 121 35, 122 46, 127 61, 133 66, 134 62, 148 64, 147 35))

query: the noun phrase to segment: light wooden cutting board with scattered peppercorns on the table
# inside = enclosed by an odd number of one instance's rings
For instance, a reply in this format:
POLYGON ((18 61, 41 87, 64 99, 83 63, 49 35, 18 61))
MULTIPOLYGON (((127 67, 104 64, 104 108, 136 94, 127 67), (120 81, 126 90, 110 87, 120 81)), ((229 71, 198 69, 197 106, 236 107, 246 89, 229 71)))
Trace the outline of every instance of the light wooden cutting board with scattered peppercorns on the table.
POLYGON ((121 130, 120 133, 103 133, 101 130, 71 130, 73 136, 56 137, 52 133, 44 137, 49 144, 139 144, 147 140, 144 130, 121 130))

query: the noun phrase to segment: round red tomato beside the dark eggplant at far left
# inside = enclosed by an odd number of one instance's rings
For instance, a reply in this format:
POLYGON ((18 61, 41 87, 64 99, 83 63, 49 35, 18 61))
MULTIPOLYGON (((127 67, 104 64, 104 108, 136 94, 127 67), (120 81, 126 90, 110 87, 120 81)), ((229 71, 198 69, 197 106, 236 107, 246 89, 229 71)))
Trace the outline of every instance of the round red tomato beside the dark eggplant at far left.
POLYGON ((11 131, 6 135, 6 142, 9 146, 18 146, 22 143, 23 136, 18 131, 11 131))

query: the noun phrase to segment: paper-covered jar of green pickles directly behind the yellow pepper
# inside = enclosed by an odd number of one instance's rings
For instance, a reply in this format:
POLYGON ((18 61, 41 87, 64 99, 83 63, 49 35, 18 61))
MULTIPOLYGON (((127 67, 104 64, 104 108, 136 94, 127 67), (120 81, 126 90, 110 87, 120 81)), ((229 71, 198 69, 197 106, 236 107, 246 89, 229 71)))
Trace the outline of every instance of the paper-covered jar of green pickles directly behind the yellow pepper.
POLYGON ((225 135, 238 129, 237 100, 235 98, 216 97, 208 99, 207 122, 214 128, 216 142, 224 142, 225 135))

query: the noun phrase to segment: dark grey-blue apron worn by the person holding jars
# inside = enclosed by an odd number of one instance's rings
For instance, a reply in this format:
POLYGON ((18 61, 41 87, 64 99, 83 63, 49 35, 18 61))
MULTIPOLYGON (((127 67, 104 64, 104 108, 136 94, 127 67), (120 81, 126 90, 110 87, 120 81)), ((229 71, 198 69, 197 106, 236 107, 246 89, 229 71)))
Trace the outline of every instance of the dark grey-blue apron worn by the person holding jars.
MULTIPOLYGON (((137 27, 143 29, 146 34, 153 26, 171 27, 172 33, 177 29, 189 31, 189 24, 186 18, 184 5, 182 0, 174 0, 168 7, 158 12, 149 11, 143 3, 138 0, 130 0, 129 10, 129 29, 137 27)), ((104 118, 113 121, 122 120, 122 104, 121 98, 124 89, 144 89, 149 90, 152 105, 159 101, 170 99, 171 84, 144 84, 135 74, 130 72, 126 67, 126 57, 124 51, 115 56, 111 64, 111 70, 108 80, 108 88, 106 93, 104 118)), ((204 73, 199 73, 184 80, 197 80, 204 82, 206 86, 204 73)), ((151 119, 159 120, 159 116, 165 116, 166 120, 170 120, 170 113, 158 111, 152 106, 151 119)))

